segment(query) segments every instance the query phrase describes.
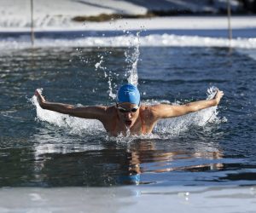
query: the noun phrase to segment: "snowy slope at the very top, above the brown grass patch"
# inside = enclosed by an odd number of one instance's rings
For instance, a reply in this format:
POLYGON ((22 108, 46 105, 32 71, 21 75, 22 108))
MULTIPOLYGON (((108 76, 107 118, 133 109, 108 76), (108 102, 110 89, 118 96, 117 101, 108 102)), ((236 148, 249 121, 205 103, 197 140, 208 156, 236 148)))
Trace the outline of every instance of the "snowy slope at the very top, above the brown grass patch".
MULTIPOLYGON (((76 16, 99 14, 147 14, 150 11, 191 11, 193 13, 225 10, 226 0, 0 0, 1 27, 27 27, 31 23, 31 3, 36 26, 55 26, 76 16)), ((241 9, 237 0, 231 8, 241 9)), ((72 21, 74 24, 74 22, 72 21)))

